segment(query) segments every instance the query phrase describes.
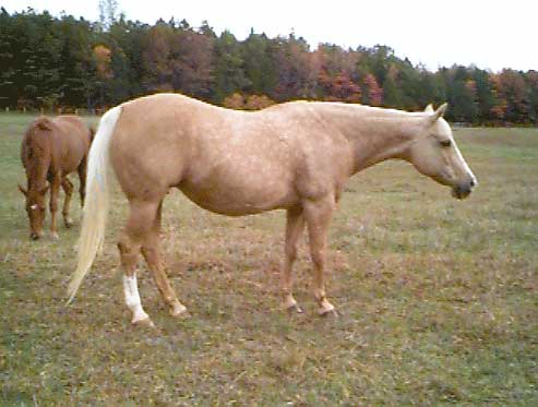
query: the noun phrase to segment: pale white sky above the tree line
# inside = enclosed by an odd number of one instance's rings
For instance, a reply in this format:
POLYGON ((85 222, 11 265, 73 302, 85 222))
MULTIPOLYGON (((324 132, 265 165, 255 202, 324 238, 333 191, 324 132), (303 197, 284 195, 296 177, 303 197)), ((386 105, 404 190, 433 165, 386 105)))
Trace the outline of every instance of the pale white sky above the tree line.
MULTIPOLYGON (((319 43, 344 48, 392 47, 400 58, 430 70, 454 63, 500 71, 538 70, 538 2, 535 0, 118 0, 129 20, 203 20, 219 34, 244 39, 253 27, 270 37, 291 31, 314 49, 319 43)), ((1 0, 10 13, 32 7, 98 20, 98 0, 1 0)))

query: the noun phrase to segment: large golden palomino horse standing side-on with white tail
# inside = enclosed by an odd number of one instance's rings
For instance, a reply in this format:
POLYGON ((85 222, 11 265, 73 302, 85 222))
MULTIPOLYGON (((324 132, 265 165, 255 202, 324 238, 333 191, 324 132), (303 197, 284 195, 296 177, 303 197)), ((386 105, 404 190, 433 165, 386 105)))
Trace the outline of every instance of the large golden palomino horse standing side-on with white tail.
POLYGON ((73 299, 104 242, 109 167, 130 204, 118 248, 125 302, 133 323, 151 324, 135 267, 142 252, 172 315, 186 308, 168 283, 159 232, 162 203, 170 188, 205 210, 229 216, 286 210, 283 306, 300 311, 291 267, 304 225, 313 262, 319 313, 335 312, 325 296, 327 229, 348 178, 388 158, 406 159, 422 173, 466 197, 476 179, 442 118, 338 103, 291 101, 256 112, 228 110, 177 94, 142 97, 101 118, 89 152, 88 196, 73 299))

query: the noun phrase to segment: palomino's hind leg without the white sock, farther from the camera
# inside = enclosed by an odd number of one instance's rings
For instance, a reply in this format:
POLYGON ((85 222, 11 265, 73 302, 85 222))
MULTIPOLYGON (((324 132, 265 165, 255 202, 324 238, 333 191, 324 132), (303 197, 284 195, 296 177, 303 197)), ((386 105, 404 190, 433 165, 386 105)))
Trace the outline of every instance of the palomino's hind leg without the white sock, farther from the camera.
POLYGON ((163 201, 160 201, 155 219, 153 222, 150 232, 146 235, 146 239, 142 243, 142 254, 147 263, 147 267, 152 271, 153 277, 157 287, 165 300, 166 304, 170 308, 170 314, 178 316, 187 309, 178 301, 174 288, 168 282, 168 277, 165 272, 165 263, 160 253, 160 214, 163 210, 163 201))

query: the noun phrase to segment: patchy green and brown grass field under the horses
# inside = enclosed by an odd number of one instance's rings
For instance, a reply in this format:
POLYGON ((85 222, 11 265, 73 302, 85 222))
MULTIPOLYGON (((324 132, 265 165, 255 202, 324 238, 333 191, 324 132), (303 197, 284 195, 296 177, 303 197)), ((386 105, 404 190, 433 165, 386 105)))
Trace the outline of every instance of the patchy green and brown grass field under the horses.
POLYGON ((227 218, 171 193, 164 248, 191 316, 170 318, 143 272, 150 330, 123 304, 118 192, 105 251, 64 307, 80 223, 28 239, 16 182, 31 120, 0 115, 0 404, 538 405, 538 130, 458 129, 480 182, 463 202, 404 163, 351 179, 330 235, 338 319, 315 315, 304 243, 306 314, 279 311, 284 213, 227 218))

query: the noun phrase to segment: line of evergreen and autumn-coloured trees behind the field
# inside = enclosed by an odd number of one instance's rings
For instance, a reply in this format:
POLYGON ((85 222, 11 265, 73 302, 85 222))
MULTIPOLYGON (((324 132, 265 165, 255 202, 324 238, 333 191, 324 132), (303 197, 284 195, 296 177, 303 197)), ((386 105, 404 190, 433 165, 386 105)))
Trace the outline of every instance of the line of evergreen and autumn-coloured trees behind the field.
POLYGON ((0 107, 106 108, 155 92, 259 109, 292 99, 420 110, 449 101, 447 119, 538 123, 538 72, 453 65, 431 72, 387 46, 316 49, 295 34, 238 40, 208 23, 107 24, 27 9, 0 10, 0 107))

